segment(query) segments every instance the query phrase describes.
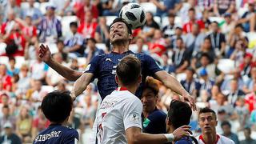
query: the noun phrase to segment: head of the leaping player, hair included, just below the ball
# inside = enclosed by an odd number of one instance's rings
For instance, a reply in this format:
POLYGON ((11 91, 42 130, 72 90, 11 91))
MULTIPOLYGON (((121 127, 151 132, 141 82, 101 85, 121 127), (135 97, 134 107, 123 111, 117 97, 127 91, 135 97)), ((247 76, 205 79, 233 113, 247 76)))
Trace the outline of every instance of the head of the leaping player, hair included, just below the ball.
POLYGON ((130 42, 131 27, 123 18, 115 18, 110 24, 110 43, 114 45, 115 43, 130 42))

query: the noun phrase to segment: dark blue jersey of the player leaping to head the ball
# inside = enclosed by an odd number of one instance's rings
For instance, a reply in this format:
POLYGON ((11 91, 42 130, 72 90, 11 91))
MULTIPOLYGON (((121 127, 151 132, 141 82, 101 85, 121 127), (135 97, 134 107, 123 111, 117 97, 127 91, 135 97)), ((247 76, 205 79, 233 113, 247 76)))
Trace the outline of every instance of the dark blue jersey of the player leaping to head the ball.
MULTIPOLYGON (((94 78, 98 78, 98 92, 101 95, 102 99, 106 97, 106 95, 111 94, 114 91, 118 84, 115 82, 115 74, 118 63, 124 58, 126 55, 132 54, 137 57, 141 61, 142 65, 142 83, 138 87, 136 92, 136 96, 141 98, 142 95, 142 86, 146 81, 147 76, 153 76, 154 73, 162 70, 158 63, 154 61, 147 54, 134 54, 132 51, 126 51, 125 53, 118 54, 111 52, 110 54, 102 54, 95 56, 89 65, 86 68, 86 73, 94 74, 94 78)), ((94 81, 94 78, 92 81, 94 81)))

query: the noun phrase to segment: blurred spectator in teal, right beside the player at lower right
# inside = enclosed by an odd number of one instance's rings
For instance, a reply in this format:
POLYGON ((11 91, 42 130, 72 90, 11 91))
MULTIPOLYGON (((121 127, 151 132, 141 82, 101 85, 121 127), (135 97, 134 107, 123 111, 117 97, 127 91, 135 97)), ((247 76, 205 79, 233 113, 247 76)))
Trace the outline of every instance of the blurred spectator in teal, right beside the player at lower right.
POLYGON ((224 121, 222 122, 222 130, 223 135, 226 138, 230 138, 234 141, 235 144, 239 144, 238 135, 231 132, 231 125, 230 122, 224 121))

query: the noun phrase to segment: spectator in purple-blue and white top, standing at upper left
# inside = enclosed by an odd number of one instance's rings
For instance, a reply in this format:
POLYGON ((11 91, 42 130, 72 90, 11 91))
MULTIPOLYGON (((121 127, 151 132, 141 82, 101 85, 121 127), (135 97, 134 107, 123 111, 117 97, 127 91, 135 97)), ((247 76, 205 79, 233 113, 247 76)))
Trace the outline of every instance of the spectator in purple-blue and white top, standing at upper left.
POLYGON ((46 16, 42 18, 38 25, 39 42, 57 42, 62 37, 62 24, 55 17, 55 6, 46 6, 46 16))

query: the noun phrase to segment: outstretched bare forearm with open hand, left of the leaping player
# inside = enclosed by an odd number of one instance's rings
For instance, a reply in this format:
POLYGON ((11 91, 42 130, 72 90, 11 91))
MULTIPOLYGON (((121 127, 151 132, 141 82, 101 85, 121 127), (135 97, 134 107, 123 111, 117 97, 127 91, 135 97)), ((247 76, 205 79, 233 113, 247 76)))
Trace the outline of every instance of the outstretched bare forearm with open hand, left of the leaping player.
POLYGON ((40 46, 39 57, 42 58, 43 62, 46 62, 48 66, 57 71, 58 74, 61 74, 62 77, 70 81, 75 81, 82 75, 82 72, 72 70, 66 66, 62 66, 58 62, 55 62, 53 58, 51 58, 48 46, 44 46, 43 44, 40 46))

